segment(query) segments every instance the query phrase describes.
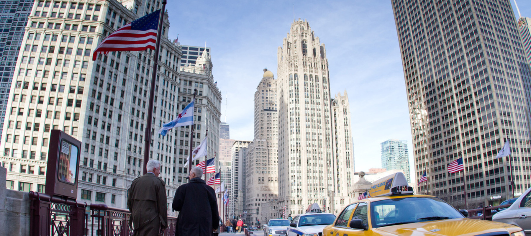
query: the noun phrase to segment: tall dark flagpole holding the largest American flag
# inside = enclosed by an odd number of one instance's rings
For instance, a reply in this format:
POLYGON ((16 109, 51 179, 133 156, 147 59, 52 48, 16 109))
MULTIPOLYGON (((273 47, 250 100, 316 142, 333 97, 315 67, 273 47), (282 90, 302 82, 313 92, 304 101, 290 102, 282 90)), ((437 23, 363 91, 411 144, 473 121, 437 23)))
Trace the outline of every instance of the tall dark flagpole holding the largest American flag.
POLYGON ((157 78, 157 68, 159 65, 160 37, 162 36, 162 22, 164 22, 164 11, 166 0, 162 0, 162 9, 159 14, 159 26, 157 28, 157 43, 155 43, 155 57, 153 58, 153 73, 151 75, 151 88, 149 91, 148 122, 145 124, 144 132, 144 174, 148 173, 148 161, 151 146, 151 123, 153 122, 153 98, 155 98, 155 79, 157 78))

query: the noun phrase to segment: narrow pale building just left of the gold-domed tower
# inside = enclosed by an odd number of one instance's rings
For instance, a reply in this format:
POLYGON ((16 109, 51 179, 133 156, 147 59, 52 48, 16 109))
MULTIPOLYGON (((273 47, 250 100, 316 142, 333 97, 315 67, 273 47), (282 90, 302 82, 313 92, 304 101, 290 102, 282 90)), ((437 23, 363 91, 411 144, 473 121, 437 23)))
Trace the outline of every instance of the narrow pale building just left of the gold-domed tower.
POLYGON ((243 182, 245 176, 245 169, 243 165, 245 163, 248 147, 251 141, 234 141, 232 145, 232 189, 229 192, 229 196, 232 196, 229 201, 229 217, 241 217, 244 210, 244 185, 243 182))

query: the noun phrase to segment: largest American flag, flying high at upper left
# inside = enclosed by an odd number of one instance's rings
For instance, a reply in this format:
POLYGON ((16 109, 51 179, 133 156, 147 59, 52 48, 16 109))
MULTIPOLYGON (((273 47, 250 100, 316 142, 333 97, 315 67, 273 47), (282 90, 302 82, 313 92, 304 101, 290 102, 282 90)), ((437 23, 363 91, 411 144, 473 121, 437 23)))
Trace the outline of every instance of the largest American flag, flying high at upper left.
POLYGON ((155 49, 159 16, 160 10, 154 11, 111 33, 96 47, 92 61, 98 53, 155 49))

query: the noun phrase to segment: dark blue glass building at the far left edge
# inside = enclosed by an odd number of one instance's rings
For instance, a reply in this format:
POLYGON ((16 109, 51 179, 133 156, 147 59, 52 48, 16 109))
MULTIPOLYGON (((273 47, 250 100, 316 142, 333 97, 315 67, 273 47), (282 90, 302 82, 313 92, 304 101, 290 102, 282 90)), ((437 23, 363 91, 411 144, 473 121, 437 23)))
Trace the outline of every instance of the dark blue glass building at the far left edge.
MULTIPOLYGON (((39 2, 44 5, 44 2, 39 2)), ((47 3, 50 4, 50 3, 47 3)), ((33 7, 33 0, 0 2, 0 142, 3 142, 7 99, 11 90, 11 81, 15 73, 16 61, 24 38, 25 26, 33 7)), ((46 16, 47 12, 40 15, 46 16)))

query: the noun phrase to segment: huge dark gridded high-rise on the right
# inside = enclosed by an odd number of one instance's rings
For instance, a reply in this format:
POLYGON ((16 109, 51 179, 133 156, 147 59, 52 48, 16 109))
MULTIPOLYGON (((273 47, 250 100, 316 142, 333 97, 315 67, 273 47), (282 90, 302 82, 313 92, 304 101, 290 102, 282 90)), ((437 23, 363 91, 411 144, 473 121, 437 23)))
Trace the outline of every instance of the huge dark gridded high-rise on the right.
POLYGON ((515 192, 531 187, 531 73, 509 0, 391 3, 417 179, 427 170, 428 192, 461 208, 463 174, 469 206, 512 198, 509 157, 495 158, 509 141, 515 192), (460 157, 465 172, 449 173, 460 157))

